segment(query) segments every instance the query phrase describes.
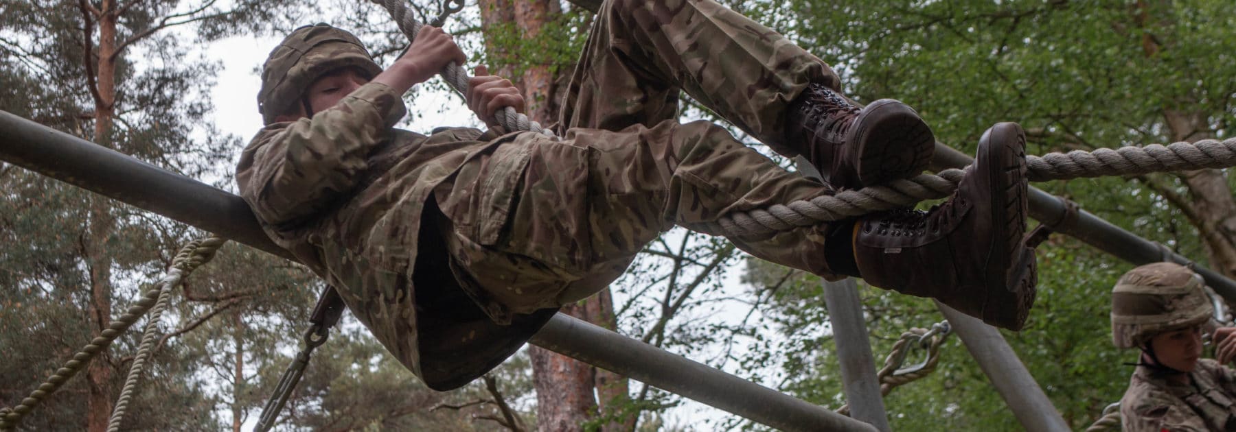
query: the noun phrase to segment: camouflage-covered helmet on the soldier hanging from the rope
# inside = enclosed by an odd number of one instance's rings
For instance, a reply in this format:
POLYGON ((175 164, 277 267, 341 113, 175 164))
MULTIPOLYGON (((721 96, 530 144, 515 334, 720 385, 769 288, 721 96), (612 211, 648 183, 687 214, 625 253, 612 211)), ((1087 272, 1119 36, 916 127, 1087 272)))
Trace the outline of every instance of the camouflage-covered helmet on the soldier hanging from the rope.
POLYGON ((356 67, 371 78, 382 72, 361 39, 326 23, 297 28, 279 43, 262 65, 262 90, 257 93, 257 111, 262 122, 287 114, 318 77, 356 67))

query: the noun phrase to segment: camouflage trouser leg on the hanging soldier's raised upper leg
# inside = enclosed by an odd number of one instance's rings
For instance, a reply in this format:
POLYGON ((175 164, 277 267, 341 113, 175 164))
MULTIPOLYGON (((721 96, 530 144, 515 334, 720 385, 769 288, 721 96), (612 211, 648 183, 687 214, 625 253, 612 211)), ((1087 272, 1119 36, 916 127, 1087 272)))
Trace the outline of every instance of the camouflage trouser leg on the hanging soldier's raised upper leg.
POLYGON ((786 106, 810 83, 839 90, 816 56, 714 1, 612 0, 593 21, 562 127, 618 131, 677 116, 679 90, 777 153, 786 106))

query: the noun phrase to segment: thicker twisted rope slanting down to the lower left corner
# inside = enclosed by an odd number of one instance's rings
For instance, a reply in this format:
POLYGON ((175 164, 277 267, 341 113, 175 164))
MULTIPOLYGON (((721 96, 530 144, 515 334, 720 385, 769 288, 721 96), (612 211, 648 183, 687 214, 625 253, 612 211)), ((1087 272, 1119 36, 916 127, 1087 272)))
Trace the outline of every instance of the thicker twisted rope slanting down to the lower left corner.
MULTIPOLYGON (((30 411, 33 410, 35 406, 37 406, 43 399, 47 399, 47 396, 51 396, 52 393, 56 393, 56 390, 59 389, 61 385, 63 385, 70 378, 77 375, 77 373, 80 372, 83 368, 85 368, 85 365, 89 364, 90 360, 99 354, 99 352, 108 348, 108 346, 110 346, 112 341, 120 337, 121 333, 129 330, 129 327, 132 326, 133 322, 137 322, 137 318, 145 315, 151 307, 153 307, 158 301, 159 296, 163 294, 166 286, 173 286, 178 284, 179 280, 184 278, 184 275, 187 275, 189 272, 193 272, 193 269, 200 265, 201 263, 209 260, 210 257, 214 255, 215 249, 218 249, 219 246, 222 244, 222 241, 214 243, 211 242, 211 239, 218 239, 218 238, 211 237, 201 242, 203 244, 213 244, 213 248, 209 249, 209 252, 203 251, 201 253, 193 253, 188 260, 183 259, 182 257, 185 254, 185 249, 193 246, 193 243, 182 249, 176 258, 180 259, 180 262, 173 259, 172 268, 168 269, 168 272, 163 275, 162 279, 159 279, 159 281, 156 284, 154 288, 146 291, 146 294, 143 294, 142 297, 138 299, 133 306, 130 306, 124 315, 111 321, 111 323, 108 325, 106 330, 100 332, 98 337, 91 339, 89 344, 87 344, 85 347, 82 348, 82 351, 74 354, 73 359, 66 362, 63 367, 57 369, 56 373, 52 374, 52 376, 48 376, 47 380, 43 384, 41 384, 37 390, 30 394, 30 396, 22 399, 21 404, 14 406, 12 409, 0 410, 0 430, 9 431, 16 428, 17 423, 21 422, 21 418, 25 417, 27 413, 30 413, 30 411)), ((208 246, 203 246, 199 247, 199 249, 206 247, 208 246)), ((136 367, 137 367, 137 360, 135 359, 132 368, 136 367)), ((132 376, 130 378, 132 379, 132 376)), ((127 380, 125 383, 125 386, 129 388, 127 380)), ((127 405, 127 397, 125 397, 124 394, 121 394, 121 399, 127 405)), ((117 407, 119 406, 120 405, 117 404, 117 407)), ((115 413, 112 413, 112 416, 115 418, 115 413)))

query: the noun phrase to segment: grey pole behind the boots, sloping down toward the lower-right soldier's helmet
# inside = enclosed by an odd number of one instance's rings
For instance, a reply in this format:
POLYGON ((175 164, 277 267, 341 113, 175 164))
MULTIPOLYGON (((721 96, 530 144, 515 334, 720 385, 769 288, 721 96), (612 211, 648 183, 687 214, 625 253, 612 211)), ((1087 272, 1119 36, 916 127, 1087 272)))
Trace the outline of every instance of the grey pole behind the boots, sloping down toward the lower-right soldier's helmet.
MULTIPOLYGON (((958 152, 942 143, 936 143, 936 158, 932 160, 933 170, 962 168, 969 165, 971 162, 974 162, 974 158, 967 156, 965 153, 958 152)), ((1064 220, 1067 215, 1067 206, 1062 197, 1031 186, 1028 199, 1030 217, 1033 217, 1039 222, 1044 222, 1048 226, 1053 226, 1064 220)), ((1090 244, 1099 251, 1110 253, 1116 258, 1137 265, 1161 260, 1169 260, 1178 264, 1193 263, 1194 272, 1198 272, 1198 274, 1206 280, 1206 285, 1215 289, 1215 293, 1224 296, 1224 299, 1227 299, 1227 301, 1236 301, 1236 281, 1232 281, 1211 269, 1201 267, 1200 264, 1172 252, 1159 243, 1137 237, 1137 235, 1111 225, 1111 222, 1099 218, 1085 210, 1078 210, 1075 223, 1062 226, 1057 230, 1057 232, 1073 236, 1083 243, 1090 244)))

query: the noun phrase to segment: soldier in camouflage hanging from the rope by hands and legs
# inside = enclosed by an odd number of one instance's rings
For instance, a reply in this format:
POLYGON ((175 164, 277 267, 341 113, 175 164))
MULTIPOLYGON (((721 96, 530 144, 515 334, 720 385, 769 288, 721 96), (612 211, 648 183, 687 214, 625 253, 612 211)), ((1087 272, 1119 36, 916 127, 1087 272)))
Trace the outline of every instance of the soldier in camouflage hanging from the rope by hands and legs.
MULTIPOLYGON (((263 67, 267 126, 236 174, 272 239, 434 389, 501 363, 674 225, 706 231, 727 212, 912 177, 934 146, 906 105, 859 110, 818 58, 708 0, 606 2, 567 88, 561 138, 393 127, 405 90, 464 60, 434 27, 384 70, 347 32, 299 28, 263 67), (719 126, 679 123, 680 90, 777 152, 807 157, 831 184, 786 172, 719 126)), ((498 106, 523 107, 504 79, 472 85, 468 105, 491 126, 498 106)), ((732 241, 1020 328, 1035 297, 1023 146, 1017 125, 989 130, 958 193, 929 212, 732 241)))

